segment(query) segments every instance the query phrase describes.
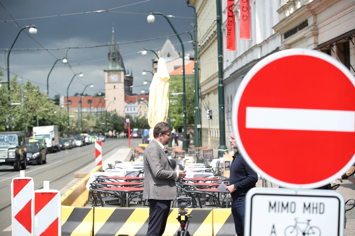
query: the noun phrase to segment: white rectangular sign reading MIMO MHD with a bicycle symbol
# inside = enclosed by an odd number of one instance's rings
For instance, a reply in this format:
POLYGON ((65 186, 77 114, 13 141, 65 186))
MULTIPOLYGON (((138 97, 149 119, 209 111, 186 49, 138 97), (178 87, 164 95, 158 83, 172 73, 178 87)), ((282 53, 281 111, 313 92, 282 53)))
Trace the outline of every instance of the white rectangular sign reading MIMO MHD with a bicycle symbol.
POLYGON ((257 189, 246 195, 246 236, 343 236, 344 198, 335 190, 257 189))

